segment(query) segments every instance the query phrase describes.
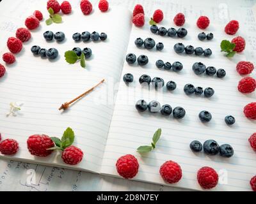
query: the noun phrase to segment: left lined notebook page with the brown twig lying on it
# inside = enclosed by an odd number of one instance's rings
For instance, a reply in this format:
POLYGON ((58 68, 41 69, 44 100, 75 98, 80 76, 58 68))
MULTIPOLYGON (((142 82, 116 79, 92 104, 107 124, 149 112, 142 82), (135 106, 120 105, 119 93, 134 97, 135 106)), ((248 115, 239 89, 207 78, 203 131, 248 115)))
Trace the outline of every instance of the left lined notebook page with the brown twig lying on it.
MULTIPOLYGON (((36 8, 44 11, 44 16, 47 17, 45 2, 40 4, 42 7, 38 5, 36 8)), ((120 78, 131 31, 130 24, 123 24, 118 32, 113 27, 117 28, 123 22, 129 22, 130 15, 126 9, 112 7, 111 12, 101 13, 95 9, 92 15, 84 16, 77 5, 72 4, 72 15, 63 16, 63 24, 47 26, 45 22, 41 22, 40 28, 32 32, 32 40, 24 43, 22 52, 17 55, 17 62, 13 66, 6 66, 6 75, 0 80, 0 132, 3 138, 17 140, 20 150, 13 157, 1 157, 29 163, 99 170, 113 113, 113 98, 108 96, 109 92, 113 92, 113 82, 118 82, 120 78), (48 30, 53 33, 63 31, 66 40, 62 43, 56 43, 55 40, 47 43, 43 33, 48 30), (75 43, 72 34, 83 31, 107 33, 108 40, 75 43), (55 47, 60 56, 56 62, 34 57, 30 51, 33 45, 40 45, 42 48, 55 47), (70 65, 65 61, 65 51, 74 47, 92 49, 93 55, 86 61, 86 69, 81 68, 79 62, 70 65), (62 103, 76 98, 103 78, 106 79, 104 84, 77 101, 74 106, 70 106, 67 112, 61 113, 58 110, 62 103), (6 117, 9 103, 15 101, 24 102, 22 109, 17 117, 6 117), (84 152, 84 159, 79 165, 65 165, 61 154, 57 152, 47 158, 29 154, 26 147, 28 136, 46 134, 61 137, 68 127, 75 132, 74 145, 84 152)), ((32 7, 31 10, 26 10, 24 17, 6 17, 6 22, 10 21, 15 27, 23 27, 24 19, 29 13, 33 13, 32 7)), ((15 30, 16 28, 13 31, 1 31, 1 36, 6 38, 2 38, 0 42, 0 55, 7 52, 7 36, 15 36, 15 30)))

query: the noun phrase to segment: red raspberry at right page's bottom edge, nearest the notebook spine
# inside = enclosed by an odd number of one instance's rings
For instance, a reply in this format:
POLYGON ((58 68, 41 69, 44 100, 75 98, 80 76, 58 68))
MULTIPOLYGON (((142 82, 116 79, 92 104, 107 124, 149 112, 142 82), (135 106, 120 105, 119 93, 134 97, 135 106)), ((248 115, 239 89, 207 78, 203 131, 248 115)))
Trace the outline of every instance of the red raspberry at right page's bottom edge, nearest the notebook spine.
POLYGON ((138 173, 140 164, 136 157, 126 154, 116 161, 116 170, 124 179, 132 179, 138 173))

